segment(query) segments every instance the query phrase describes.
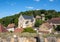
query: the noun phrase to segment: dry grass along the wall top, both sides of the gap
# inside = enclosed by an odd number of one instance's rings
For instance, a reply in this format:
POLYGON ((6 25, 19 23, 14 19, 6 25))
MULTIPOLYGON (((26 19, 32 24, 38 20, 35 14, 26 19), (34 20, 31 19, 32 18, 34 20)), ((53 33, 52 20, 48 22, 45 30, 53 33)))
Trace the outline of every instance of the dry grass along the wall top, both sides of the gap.
MULTIPOLYGON (((13 37, 13 35, 16 35, 18 37, 36 37, 37 34, 36 33, 28 33, 28 32, 24 32, 24 33, 0 33, 0 37, 1 38, 7 38, 7 37, 13 37)), ((49 36, 54 36, 56 38, 60 38, 60 34, 44 34, 42 35, 44 38, 47 38, 49 36)))

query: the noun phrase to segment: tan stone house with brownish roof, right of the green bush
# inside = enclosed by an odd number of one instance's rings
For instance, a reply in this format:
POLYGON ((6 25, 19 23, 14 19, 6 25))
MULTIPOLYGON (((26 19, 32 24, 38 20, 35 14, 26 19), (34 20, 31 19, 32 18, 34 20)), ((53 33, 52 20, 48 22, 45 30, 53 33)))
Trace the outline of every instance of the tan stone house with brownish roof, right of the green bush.
POLYGON ((52 33, 53 26, 50 25, 49 23, 43 23, 39 27, 39 32, 42 33, 52 33))

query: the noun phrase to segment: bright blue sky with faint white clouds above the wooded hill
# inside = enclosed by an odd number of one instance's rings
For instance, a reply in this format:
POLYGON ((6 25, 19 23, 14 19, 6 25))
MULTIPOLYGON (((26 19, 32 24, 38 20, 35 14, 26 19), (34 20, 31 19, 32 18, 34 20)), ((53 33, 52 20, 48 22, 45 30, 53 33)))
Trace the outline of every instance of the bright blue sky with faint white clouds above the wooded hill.
POLYGON ((60 0, 0 0, 0 18, 39 9, 60 11, 60 0))

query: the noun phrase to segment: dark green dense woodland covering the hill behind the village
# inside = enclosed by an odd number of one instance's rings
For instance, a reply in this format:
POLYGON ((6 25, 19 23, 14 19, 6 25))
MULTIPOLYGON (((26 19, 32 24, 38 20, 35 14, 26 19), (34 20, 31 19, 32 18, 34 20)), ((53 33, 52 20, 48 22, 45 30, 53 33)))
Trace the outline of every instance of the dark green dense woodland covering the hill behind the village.
POLYGON ((17 26, 20 14, 33 15, 34 17, 36 17, 36 15, 45 14, 46 20, 51 19, 53 17, 60 17, 60 12, 55 10, 29 10, 25 12, 20 12, 12 16, 3 17, 0 19, 0 23, 4 26, 7 26, 9 23, 15 23, 15 25, 17 26))

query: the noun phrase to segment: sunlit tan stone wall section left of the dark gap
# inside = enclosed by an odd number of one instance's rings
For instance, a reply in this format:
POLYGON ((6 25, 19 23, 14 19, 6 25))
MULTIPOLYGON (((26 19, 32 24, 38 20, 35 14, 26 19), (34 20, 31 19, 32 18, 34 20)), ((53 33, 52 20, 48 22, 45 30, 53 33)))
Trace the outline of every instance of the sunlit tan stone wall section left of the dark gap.
POLYGON ((36 39, 32 37, 1 38, 0 42, 36 42, 36 39))

